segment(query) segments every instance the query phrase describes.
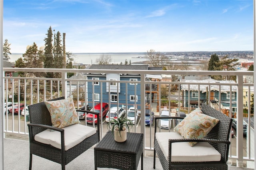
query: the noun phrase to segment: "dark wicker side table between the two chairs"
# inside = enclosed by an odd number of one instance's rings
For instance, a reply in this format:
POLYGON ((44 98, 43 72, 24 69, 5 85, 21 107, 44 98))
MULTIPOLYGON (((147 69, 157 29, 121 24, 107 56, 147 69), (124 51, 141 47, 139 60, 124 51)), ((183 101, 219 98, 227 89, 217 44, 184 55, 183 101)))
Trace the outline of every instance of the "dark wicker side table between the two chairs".
POLYGON ((143 134, 127 133, 127 140, 118 143, 114 135, 108 131, 102 140, 94 147, 94 164, 97 168, 116 168, 121 170, 136 170, 141 157, 143 169, 143 134))

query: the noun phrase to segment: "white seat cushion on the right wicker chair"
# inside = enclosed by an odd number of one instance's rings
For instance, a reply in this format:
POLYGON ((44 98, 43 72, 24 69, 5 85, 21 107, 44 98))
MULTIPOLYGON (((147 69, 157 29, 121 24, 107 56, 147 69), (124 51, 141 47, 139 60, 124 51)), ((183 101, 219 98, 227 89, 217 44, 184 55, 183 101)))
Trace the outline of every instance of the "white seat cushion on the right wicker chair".
MULTIPOLYGON (((156 140, 166 157, 168 156, 168 139, 184 139, 176 132, 157 132, 156 140)), ((191 147, 188 142, 172 143, 172 162, 208 162, 220 161, 221 154, 207 142, 198 142, 194 147, 191 147)))

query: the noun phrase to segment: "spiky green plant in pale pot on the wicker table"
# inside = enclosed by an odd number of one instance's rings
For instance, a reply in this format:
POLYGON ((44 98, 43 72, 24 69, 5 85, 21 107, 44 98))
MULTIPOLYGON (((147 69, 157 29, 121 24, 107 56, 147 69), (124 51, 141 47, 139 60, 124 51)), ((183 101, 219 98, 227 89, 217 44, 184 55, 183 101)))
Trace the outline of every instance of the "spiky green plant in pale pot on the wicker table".
POLYGON ((132 128, 132 121, 127 117, 118 117, 117 119, 111 119, 108 122, 108 129, 112 131, 116 142, 124 142, 127 139, 127 131, 130 132, 132 128))

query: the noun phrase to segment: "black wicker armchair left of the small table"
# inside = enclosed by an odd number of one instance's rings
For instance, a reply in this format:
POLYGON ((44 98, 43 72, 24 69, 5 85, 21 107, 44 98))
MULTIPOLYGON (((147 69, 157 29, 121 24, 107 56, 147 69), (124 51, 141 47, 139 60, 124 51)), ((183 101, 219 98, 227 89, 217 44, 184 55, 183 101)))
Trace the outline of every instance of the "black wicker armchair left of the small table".
MULTIPOLYGON (((56 98, 53 100, 61 100, 64 97, 56 98)), ((51 100, 51 101, 53 101, 51 100)), ((32 154, 37 156, 46 158, 48 160, 52 160, 61 164, 62 170, 65 169, 65 165, 71 162, 74 158, 82 154, 84 151, 92 147, 94 144, 100 141, 100 126, 97 126, 96 133, 80 142, 76 146, 71 149, 64 149, 64 129, 60 129, 57 127, 52 127, 50 113, 44 104, 44 102, 33 104, 28 106, 30 123, 28 124, 29 130, 29 140, 30 140, 30 164, 29 169, 32 169, 32 154), (53 147, 51 145, 46 145, 44 143, 39 143, 35 141, 34 137, 36 134, 46 130, 52 129, 55 131, 59 131, 61 134, 61 149, 53 147)), ((87 111, 87 110, 77 110, 83 111, 87 113, 92 113, 97 115, 97 119, 99 119, 99 113, 87 111)), ((72 126, 72 125, 71 125, 72 126)))

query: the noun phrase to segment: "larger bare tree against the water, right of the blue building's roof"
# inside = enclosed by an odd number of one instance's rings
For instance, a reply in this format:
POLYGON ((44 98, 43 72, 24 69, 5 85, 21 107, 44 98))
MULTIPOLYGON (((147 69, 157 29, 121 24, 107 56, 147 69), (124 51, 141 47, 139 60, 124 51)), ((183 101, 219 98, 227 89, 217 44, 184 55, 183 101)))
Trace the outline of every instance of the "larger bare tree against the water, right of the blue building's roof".
POLYGON ((167 57, 162 55, 160 52, 156 52, 153 49, 147 51, 145 57, 150 61, 150 66, 163 67, 168 61, 167 57))

